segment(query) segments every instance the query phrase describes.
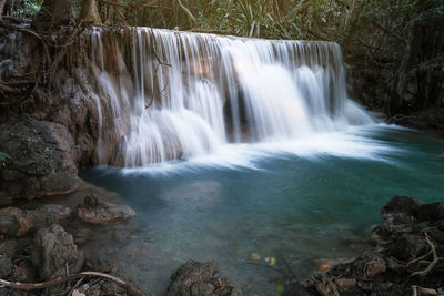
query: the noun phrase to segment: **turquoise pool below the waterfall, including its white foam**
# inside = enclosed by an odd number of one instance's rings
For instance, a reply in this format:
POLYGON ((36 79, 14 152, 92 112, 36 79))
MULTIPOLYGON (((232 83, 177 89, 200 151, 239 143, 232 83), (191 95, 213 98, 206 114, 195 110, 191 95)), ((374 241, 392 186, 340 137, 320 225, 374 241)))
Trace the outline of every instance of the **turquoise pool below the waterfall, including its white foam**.
MULTIPOLYGON (((394 195, 444 201, 444 141, 371 125, 290 143, 225 145, 212 155, 144 169, 84 169, 138 213, 104 247, 150 292, 189 258, 219 262, 246 295, 278 294, 286 262, 303 279, 329 258, 359 253, 394 195), (251 254, 261 259, 254 262, 251 254), (254 264, 252 264, 254 263, 254 264), (246 286, 251 288, 246 290, 246 286)), ((102 252, 103 253, 103 252, 102 252)))

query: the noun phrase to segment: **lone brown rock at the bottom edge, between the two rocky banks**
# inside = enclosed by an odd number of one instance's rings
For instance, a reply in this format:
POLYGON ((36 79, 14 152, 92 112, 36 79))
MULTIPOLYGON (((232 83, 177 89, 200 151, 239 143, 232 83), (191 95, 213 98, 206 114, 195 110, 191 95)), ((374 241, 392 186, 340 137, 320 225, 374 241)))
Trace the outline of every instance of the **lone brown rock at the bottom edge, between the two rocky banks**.
POLYGON ((230 279, 214 276, 218 269, 215 262, 186 262, 171 276, 165 296, 242 295, 230 279))

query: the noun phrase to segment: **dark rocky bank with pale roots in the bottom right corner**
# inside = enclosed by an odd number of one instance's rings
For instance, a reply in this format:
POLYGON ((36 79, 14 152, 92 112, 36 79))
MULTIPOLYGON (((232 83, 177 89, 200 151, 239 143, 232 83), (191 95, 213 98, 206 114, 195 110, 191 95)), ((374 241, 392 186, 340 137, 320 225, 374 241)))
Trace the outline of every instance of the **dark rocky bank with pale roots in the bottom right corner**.
POLYGON ((371 232, 374 249, 315 274, 316 295, 444 295, 444 203, 393 197, 371 232))

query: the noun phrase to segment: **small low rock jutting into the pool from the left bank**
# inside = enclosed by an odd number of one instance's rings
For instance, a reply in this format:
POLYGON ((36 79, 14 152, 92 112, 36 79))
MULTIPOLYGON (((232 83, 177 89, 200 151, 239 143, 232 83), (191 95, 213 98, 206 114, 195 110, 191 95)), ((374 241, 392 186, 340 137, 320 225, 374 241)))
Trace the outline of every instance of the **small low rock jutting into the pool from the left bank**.
POLYGON ((110 224, 115 221, 127 220, 135 215, 128 205, 108 203, 102 196, 91 194, 84 197, 84 203, 78 208, 78 216, 92 224, 110 224))

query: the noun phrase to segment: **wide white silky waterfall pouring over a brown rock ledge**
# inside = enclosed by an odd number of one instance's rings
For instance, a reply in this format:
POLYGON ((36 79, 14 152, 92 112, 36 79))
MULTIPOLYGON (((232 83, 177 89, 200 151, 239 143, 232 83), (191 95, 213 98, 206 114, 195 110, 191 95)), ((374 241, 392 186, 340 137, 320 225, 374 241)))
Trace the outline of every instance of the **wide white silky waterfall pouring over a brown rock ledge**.
POLYGON ((94 28, 90 39, 100 164, 147 165, 372 123, 347 99, 336 43, 150 28, 94 28))

